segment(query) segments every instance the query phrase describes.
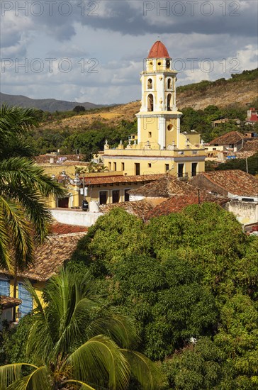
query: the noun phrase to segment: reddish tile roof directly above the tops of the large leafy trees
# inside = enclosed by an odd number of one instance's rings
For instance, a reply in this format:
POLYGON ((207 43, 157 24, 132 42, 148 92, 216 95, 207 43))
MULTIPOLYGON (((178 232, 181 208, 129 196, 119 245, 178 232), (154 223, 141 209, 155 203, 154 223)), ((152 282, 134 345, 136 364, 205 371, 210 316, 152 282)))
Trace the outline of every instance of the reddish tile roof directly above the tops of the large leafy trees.
MULTIPOLYGON (((194 188, 194 187, 193 187, 194 188)), ((228 198, 218 197, 208 194, 207 191, 200 190, 200 202, 213 202, 223 205, 228 201, 228 198)), ((198 189, 194 189, 190 194, 174 195, 167 201, 162 202, 156 206, 152 211, 147 213, 146 219, 149 220, 153 217, 167 216, 170 213, 178 213, 184 207, 191 204, 198 204, 198 189)))

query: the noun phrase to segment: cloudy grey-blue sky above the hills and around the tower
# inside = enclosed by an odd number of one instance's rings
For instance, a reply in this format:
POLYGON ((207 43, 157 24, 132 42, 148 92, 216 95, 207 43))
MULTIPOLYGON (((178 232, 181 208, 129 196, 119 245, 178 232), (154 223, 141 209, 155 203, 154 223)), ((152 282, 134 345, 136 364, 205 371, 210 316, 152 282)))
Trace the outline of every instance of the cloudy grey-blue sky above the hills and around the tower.
POLYGON ((156 40, 178 85, 257 67, 256 0, 1 0, 1 92, 126 103, 156 40))

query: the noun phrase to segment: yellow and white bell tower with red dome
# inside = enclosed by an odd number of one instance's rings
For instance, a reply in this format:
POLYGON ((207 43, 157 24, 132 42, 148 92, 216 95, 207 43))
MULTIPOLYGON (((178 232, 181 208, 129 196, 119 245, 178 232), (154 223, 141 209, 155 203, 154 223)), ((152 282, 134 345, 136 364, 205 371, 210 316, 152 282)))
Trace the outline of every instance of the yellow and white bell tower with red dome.
POLYGON ((172 149, 179 143, 181 113, 176 107, 176 72, 162 42, 152 45, 141 72, 142 101, 138 118, 138 144, 150 149, 172 149))

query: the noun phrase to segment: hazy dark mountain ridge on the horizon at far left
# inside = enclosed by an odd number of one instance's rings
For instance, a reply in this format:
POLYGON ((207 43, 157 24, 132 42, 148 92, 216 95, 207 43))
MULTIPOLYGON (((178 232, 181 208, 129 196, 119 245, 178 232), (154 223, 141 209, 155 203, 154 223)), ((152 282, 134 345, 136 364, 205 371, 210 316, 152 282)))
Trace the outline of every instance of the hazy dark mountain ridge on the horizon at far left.
POLYGON ((104 104, 94 104, 86 101, 65 101, 56 99, 30 99, 23 95, 9 95, 0 92, 0 105, 8 104, 9 106, 21 106, 24 108, 38 108, 43 111, 71 111, 75 106, 84 106, 86 110, 93 108, 105 107, 104 104))

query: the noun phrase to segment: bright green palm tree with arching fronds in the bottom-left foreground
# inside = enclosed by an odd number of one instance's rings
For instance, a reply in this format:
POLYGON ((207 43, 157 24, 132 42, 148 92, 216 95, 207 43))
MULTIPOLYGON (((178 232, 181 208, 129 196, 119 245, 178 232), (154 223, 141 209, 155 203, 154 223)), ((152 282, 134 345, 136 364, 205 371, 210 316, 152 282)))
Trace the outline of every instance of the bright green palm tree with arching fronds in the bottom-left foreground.
POLYGON ((47 284, 44 304, 27 289, 36 302, 27 342, 35 364, 0 367, 0 389, 126 390, 132 377, 141 389, 160 388, 156 365, 130 350, 138 343, 134 321, 103 306, 89 273, 62 269, 47 284), (30 373, 22 376, 25 367, 30 373))

